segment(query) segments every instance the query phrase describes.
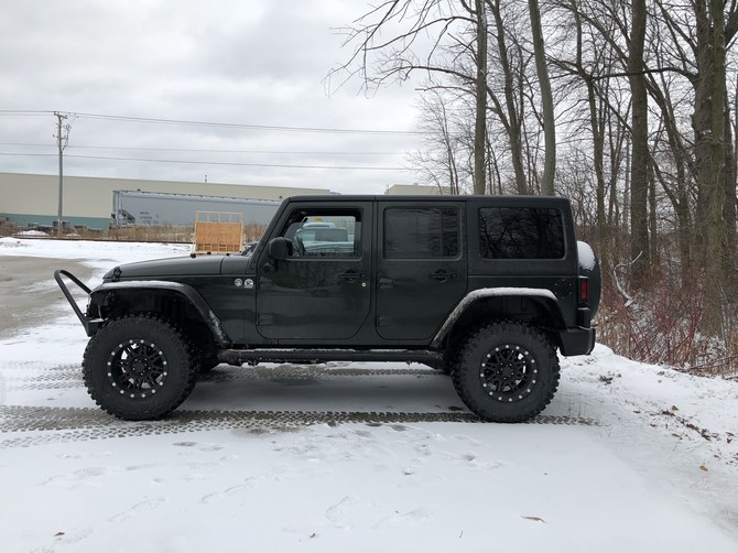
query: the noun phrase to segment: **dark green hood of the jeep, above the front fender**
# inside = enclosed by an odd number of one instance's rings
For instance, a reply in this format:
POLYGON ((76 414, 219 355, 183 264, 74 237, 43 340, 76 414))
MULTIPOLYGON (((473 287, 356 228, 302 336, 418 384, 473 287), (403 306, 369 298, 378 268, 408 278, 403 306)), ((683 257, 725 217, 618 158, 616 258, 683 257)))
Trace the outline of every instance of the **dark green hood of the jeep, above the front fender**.
POLYGON ((172 276, 220 274, 220 264, 224 259, 223 256, 199 256, 126 263, 108 271, 102 280, 106 282, 138 279, 166 280, 172 276))

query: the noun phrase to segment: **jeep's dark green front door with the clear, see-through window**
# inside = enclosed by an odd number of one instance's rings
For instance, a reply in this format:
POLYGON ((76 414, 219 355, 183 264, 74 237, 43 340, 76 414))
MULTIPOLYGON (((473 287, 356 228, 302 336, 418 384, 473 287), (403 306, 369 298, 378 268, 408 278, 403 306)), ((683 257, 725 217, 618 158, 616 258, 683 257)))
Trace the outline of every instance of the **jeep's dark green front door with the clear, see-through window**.
POLYGON ((286 260, 258 264, 257 328, 267 338, 346 339, 371 308, 371 202, 313 207, 295 203, 274 237, 286 260))

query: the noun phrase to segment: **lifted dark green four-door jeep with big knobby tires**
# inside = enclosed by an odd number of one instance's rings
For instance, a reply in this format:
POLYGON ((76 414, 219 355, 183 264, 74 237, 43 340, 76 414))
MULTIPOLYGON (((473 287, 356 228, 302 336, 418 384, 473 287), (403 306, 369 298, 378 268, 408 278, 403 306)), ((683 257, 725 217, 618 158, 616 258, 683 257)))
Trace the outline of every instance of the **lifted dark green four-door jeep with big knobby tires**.
POLYGON ((481 419, 525 421, 556 349, 592 351, 600 292, 568 202, 521 196, 292 197, 243 254, 55 278, 90 337, 89 394, 127 420, 170 413, 220 362, 343 360, 426 364, 481 419))

